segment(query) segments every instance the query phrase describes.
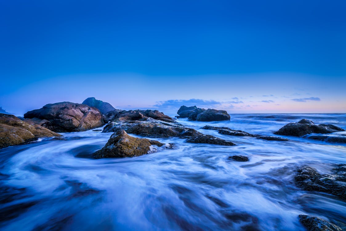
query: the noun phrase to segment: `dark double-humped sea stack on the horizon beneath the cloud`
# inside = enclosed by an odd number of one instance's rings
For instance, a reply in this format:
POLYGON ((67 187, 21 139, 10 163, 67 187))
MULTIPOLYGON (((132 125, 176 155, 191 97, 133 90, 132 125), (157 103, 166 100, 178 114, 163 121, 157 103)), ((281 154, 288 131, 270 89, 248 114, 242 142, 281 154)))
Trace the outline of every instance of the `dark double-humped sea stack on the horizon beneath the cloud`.
POLYGON ((189 118, 192 121, 222 121, 229 120, 230 116, 225 110, 203 109, 196 106, 181 106, 177 112, 179 118, 189 118))

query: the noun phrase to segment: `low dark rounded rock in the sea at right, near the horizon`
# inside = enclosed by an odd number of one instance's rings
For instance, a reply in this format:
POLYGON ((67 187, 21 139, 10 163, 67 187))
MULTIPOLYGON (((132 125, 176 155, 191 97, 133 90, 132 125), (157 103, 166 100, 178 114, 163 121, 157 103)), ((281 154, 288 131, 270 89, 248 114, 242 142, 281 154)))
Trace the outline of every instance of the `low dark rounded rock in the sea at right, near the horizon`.
MULTIPOLYGON (((302 120, 301 120, 302 121, 302 120)), ((311 123, 301 122, 289 123, 280 128, 278 131, 274 132, 277 135, 292 135, 292 136, 303 136, 311 133, 327 134, 333 132, 345 131, 341 127, 337 127, 332 124, 319 124, 315 125, 312 121, 311 123)), ((307 120, 306 120, 307 121, 307 120)))

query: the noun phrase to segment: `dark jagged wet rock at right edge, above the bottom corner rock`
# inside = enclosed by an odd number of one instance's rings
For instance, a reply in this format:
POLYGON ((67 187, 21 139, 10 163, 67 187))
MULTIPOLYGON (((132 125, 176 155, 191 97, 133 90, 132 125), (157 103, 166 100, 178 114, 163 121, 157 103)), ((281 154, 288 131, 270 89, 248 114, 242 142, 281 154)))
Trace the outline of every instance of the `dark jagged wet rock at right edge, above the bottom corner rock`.
POLYGON ((319 174, 315 169, 303 166, 294 177, 304 190, 333 194, 346 201, 346 165, 337 165, 333 174, 319 174))

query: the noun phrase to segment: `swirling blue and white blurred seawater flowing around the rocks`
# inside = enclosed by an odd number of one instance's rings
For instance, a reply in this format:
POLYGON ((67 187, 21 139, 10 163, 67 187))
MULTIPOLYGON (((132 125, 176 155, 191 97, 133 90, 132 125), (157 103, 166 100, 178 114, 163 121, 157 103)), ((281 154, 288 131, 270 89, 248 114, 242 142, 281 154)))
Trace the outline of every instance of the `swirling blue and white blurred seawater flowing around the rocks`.
POLYGON ((346 129, 346 114, 231 114, 230 121, 178 121, 236 146, 154 139, 176 148, 95 160, 90 154, 111 133, 90 130, 1 149, 0 229, 304 230, 299 214, 345 222, 345 202, 294 183, 299 166, 329 173, 333 164, 346 163, 345 144, 291 136, 287 142, 267 141, 200 129, 226 126, 273 135, 302 118, 346 129), (228 160, 233 155, 250 160, 228 160))

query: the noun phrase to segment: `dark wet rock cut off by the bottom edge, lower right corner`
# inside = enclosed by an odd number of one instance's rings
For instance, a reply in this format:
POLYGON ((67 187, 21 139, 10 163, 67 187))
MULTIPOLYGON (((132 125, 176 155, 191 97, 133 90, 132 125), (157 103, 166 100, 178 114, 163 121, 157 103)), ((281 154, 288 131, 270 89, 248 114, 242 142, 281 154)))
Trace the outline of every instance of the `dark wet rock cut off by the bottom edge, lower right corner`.
POLYGON ((299 215, 299 221, 307 228, 309 231, 342 231, 342 229, 317 216, 309 215, 299 215))

